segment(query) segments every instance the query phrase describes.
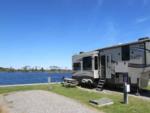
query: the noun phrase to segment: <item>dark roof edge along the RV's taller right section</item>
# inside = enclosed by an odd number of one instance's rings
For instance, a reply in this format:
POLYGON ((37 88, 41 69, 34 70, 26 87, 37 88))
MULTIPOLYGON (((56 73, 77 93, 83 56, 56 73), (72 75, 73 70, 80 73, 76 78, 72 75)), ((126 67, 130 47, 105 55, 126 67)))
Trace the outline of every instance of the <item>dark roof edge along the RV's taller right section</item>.
POLYGON ((143 40, 138 40, 135 42, 125 43, 125 44, 118 44, 118 45, 109 46, 109 47, 104 47, 104 48, 97 49, 96 51, 104 50, 104 49, 112 49, 112 48, 121 47, 121 46, 125 46, 125 45, 139 44, 139 43, 149 42, 149 41, 150 41, 150 38, 147 37, 146 39, 143 39, 143 40))

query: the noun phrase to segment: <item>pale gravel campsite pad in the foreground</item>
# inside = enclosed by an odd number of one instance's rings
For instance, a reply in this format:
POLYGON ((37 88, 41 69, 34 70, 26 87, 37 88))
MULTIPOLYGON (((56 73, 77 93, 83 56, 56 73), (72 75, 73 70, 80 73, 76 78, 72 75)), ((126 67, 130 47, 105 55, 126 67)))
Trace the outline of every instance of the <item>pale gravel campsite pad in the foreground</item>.
POLYGON ((48 91, 21 91, 3 98, 9 113, 97 113, 79 102, 48 91))

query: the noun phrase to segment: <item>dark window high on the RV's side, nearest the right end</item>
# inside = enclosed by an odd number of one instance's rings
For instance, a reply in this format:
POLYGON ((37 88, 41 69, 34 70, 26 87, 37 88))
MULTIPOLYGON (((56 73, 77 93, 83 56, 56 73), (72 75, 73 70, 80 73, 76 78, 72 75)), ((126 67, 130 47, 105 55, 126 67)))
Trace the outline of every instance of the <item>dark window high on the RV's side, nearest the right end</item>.
POLYGON ((122 61, 130 60, 130 48, 129 45, 122 46, 122 61))

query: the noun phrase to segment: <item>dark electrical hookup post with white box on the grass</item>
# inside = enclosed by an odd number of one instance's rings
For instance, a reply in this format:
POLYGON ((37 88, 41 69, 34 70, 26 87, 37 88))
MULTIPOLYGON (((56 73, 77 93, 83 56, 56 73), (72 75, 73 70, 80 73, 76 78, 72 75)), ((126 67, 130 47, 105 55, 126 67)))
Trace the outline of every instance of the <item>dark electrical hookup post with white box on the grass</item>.
POLYGON ((128 93, 130 92, 130 85, 127 82, 124 82, 124 104, 128 104, 128 93))

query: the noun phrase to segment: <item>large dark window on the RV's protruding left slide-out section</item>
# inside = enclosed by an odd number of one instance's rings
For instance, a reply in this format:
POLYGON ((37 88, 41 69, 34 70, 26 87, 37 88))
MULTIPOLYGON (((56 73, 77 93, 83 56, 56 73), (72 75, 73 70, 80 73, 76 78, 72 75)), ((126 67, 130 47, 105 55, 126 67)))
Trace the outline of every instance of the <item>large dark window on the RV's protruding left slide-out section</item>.
POLYGON ((92 70, 92 57, 83 58, 83 70, 92 70))

